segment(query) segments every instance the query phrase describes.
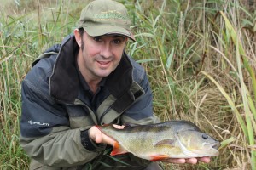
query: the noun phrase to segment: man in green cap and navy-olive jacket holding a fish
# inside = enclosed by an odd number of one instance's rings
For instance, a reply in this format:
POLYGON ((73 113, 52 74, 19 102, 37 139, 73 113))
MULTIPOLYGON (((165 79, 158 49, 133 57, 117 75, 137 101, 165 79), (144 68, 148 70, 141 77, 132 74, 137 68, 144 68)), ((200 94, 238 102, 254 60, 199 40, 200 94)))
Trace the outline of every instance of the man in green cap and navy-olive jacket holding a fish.
POLYGON ((158 122, 148 77, 125 54, 128 39, 135 41, 125 6, 96 0, 73 35, 39 57, 22 82, 20 145, 30 169, 160 169, 131 154, 108 156, 114 141, 94 127, 158 122))

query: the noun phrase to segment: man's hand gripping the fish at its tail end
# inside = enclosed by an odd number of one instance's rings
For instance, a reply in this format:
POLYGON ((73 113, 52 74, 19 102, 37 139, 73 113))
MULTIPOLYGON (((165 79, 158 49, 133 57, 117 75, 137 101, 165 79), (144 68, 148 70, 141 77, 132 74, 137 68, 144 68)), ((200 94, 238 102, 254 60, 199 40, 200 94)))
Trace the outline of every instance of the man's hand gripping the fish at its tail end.
MULTIPOLYGON (((125 126, 113 125, 115 128, 122 129, 125 126)), ((94 140, 97 144, 109 144, 112 145, 115 143, 115 140, 108 137, 106 134, 102 133, 97 127, 93 126, 89 129, 90 139, 94 140)))

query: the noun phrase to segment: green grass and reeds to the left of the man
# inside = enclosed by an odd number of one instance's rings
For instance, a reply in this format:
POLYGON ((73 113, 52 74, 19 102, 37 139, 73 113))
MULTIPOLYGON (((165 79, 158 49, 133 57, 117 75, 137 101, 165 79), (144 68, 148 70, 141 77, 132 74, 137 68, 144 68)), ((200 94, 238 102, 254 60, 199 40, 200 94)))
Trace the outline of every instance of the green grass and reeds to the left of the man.
POLYGON ((20 3, 0 6, 0 169, 28 169, 29 158, 19 144, 20 82, 38 54, 61 42, 77 20, 70 1, 58 1, 55 8, 42 2, 30 1, 35 11, 23 10, 20 3))

